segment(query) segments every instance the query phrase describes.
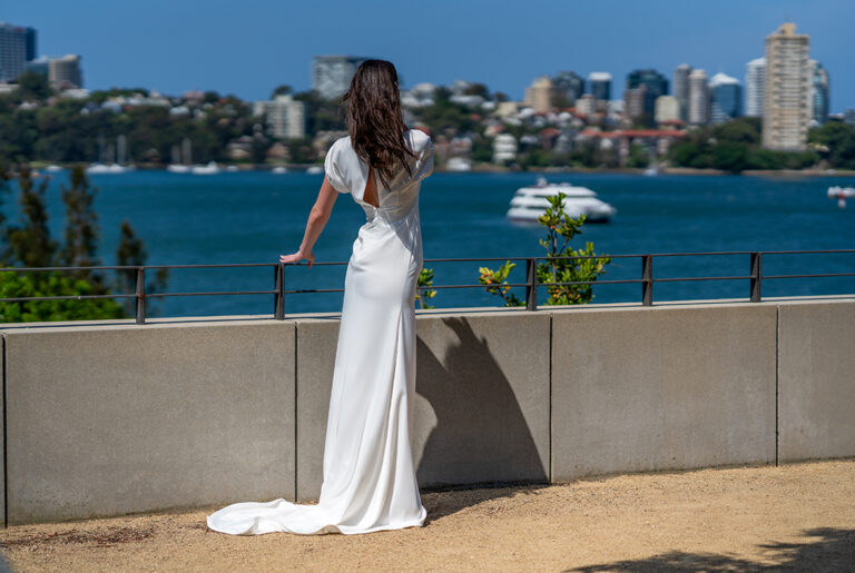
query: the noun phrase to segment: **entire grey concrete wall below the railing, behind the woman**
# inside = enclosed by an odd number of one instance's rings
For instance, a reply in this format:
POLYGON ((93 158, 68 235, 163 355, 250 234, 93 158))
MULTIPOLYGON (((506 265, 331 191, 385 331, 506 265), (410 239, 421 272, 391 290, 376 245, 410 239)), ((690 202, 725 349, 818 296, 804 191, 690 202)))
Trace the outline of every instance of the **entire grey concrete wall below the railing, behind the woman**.
MULTIPOLYGON (((432 312, 416 330, 425 488, 855 455, 853 298, 432 312)), ((337 317, 0 333, 8 523, 317 498, 337 317)))

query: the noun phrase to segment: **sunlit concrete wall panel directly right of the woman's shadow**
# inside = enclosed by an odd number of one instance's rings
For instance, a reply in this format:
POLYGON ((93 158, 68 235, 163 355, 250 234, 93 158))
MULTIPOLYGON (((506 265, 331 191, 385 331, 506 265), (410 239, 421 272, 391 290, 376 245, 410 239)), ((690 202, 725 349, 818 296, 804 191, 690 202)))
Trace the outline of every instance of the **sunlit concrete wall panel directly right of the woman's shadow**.
POLYGON ((775 462, 774 306, 556 312, 552 480, 775 462))

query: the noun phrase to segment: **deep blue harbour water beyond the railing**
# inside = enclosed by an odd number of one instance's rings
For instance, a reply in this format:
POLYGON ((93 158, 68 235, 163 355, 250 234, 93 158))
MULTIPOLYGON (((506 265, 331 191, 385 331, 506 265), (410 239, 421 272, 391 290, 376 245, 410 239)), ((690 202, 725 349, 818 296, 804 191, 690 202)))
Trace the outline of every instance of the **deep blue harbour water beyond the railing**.
MULTIPOLYGON (((543 254, 537 226, 504 218, 513 192, 535 180, 534 174, 434 174, 422 185, 421 218, 425 258, 524 257, 543 254)), ((720 250, 788 250, 855 248, 855 201, 839 209, 826 197, 845 178, 760 178, 738 176, 658 176, 623 174, 549 175, 597 191, 618 209, 609 224, 589 224, 573 241, 594 244, 598 254, 645 254, 720 250)), ((298 247, 322 176, 303 172, 226 172, 191 176, 134 171, 91 176, 100 190, 95 200, 101 230, 102 264, 116 264, 119 224, 128 219, 145 240, 149 265, 276 263, 298 247)), ((63 207, 60 184, 48 191, 50 227, 61 238, 63 207)), ((17 217, 14 198, 4 210, 17 217)), ((346 261, 357 229, 365 220, 350 196, 338 197, 333 216, 315 247, 317 261, 346 261)), ((13 223, 13 221, 12 221, 13 223)), ((855 254, 769 255, 764 274, 852 273, 855 254)), ((478 267, 495 263, 430 264, 435 284, 476 284, 478 267)), ((656 258, 656 277, 747 275, 748 255, 656 258)), ((601 278, 639 278, 637 258, 615 259, 601 278)), ((345 267, 288 267, 287 288, 341 288, 345 267)), ((524 281, 520 266, 512 281, 524 281)), ((273 269, 174 269, 168 292, 252 290, 273 288, 273 269)), ((657 283, 655 300, 747 297, 748 280, 657 283)), ((855 292, 854 277, 764 281, 764 296, 827 295, 855 292)), ((543 297, 546 293, 541 294, 543 297)), ((519 293, 523 296, 523 293, 519 293)), ((594 302, 638 302, 638 284, 600 285, 594 302)), ((296 294, 286 312, 341 309, 342 295, 296 294)), ((481 289, 440 290, 438 307, 498 305, 481 289)), ((154 314, 199 316, 267 314, 272 295, 187 296, 160 299, 154 314)), ((153 314, 153 313, 150 313, 153 314)))

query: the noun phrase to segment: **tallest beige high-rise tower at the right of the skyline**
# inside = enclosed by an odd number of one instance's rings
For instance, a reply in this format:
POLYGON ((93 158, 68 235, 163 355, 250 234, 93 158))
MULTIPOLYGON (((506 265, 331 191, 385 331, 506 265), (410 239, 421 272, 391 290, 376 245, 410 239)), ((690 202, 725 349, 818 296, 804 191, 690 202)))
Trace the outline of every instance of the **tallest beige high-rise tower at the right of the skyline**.
POLYGON ((802 150, 810 121, 808 36, 786 22, 766 37, 763 147, 802 150))

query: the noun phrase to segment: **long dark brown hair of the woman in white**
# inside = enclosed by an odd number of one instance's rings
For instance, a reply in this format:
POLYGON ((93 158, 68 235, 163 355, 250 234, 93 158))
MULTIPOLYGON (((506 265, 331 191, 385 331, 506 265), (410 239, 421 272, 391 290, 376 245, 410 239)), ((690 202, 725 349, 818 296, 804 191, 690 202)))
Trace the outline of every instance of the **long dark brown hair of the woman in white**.
POLYGON ((407 159, 415 154, 404 142, 406 126, 394 65, 386 60, 363 61, 342 101, 347 103, 351 146, 376 169, 383 185, 389 185, 399 162, 412 174, 407 159))

